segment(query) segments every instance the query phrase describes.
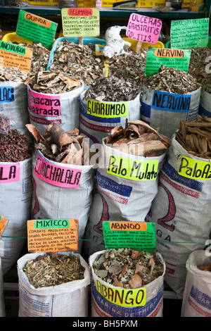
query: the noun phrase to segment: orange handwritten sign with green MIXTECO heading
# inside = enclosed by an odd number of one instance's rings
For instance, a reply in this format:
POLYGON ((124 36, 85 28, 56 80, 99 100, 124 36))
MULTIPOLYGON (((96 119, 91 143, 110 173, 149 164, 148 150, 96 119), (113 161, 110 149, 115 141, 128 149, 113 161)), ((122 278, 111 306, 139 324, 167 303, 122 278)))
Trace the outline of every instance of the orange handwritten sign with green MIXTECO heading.
POLYGON ((75 219, 28 220, 28 251, 77 251, 78 221, 75 219))

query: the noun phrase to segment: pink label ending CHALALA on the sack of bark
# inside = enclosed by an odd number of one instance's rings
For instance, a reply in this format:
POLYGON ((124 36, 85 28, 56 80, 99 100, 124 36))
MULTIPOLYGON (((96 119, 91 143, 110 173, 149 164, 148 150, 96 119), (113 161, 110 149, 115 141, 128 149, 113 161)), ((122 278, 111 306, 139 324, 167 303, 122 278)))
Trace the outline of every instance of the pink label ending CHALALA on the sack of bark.
POLYGON ((37 156, 34 174, 51 185, 76 189, 79 186, 82 170, 58 166, 37 156))

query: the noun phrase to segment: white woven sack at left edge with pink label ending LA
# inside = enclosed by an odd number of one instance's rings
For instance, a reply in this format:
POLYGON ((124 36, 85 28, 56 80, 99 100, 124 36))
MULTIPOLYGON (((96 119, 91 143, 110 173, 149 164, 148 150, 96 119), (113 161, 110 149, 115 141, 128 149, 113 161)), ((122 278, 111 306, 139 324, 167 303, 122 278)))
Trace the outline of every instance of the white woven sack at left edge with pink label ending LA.
POLYGON ((4 177, 0 180, 0 215, 8 219, 1 239, 4 256, 1 258, 3 274, 16 263, 27 239, 27 220, 32 206, 32 158, 19 163, 1 162, 4 177), (9 175, 11 173, 11 176, 9 175), (11 178, 9 178, 11 177, 11 178))

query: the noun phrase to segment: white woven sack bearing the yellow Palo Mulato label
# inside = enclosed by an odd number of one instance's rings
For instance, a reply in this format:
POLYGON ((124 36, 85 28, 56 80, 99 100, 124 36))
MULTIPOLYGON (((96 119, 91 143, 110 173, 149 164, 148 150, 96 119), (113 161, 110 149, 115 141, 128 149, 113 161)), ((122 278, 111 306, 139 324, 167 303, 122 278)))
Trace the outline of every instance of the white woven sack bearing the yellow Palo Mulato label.
MULTIPOLYGON (((101 158, 102 163, 98 163, 96 171, 96 187, 94 189, 93 201, 91 203, 89 222, 87 223, 84 238, 84 250, 87 256, 94 254, 96 251, 105 249, 103 242, 103 220, 129 220, 135 222, 143 222, 148 211, 151 208, 151 203, 158 192, 158 173, 162 168, 162 161, 165 154, 161 156, 144 158, 126 154, 110 146, 102 144, 101 158), (108 160, 113 155, 116 158, 122 157, 130 160, 130 163, 136 161, 136 165, 141 165, 143 162, 149 164, 151 162, 158 163, 158 171, 153 175, 152 180, 133 180, 127 177, 119 177, 113 173, 107 172, 108 160)), ((137 170, 138 168, 136 168, 137 170)), ((143 174, 141 168, 136 174, 143 174), (140 172, 139 172, 140 170, 140 172)), ((149 171, 149 170, 148 170, 149 171)), ((147 173, 147 171, 146 171, 147 173)), ((151 177, 152 178, 152 177, 151 177)))

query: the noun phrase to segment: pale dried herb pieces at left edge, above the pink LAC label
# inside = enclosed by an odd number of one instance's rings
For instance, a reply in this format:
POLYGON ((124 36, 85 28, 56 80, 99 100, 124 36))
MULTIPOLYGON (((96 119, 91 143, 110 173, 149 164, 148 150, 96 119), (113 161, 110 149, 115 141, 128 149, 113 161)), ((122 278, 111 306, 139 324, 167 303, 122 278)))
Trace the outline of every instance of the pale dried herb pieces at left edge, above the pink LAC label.
POLYGON ((29 75, 16 67, 0 66, 0 82, 25 82, 29 75))

